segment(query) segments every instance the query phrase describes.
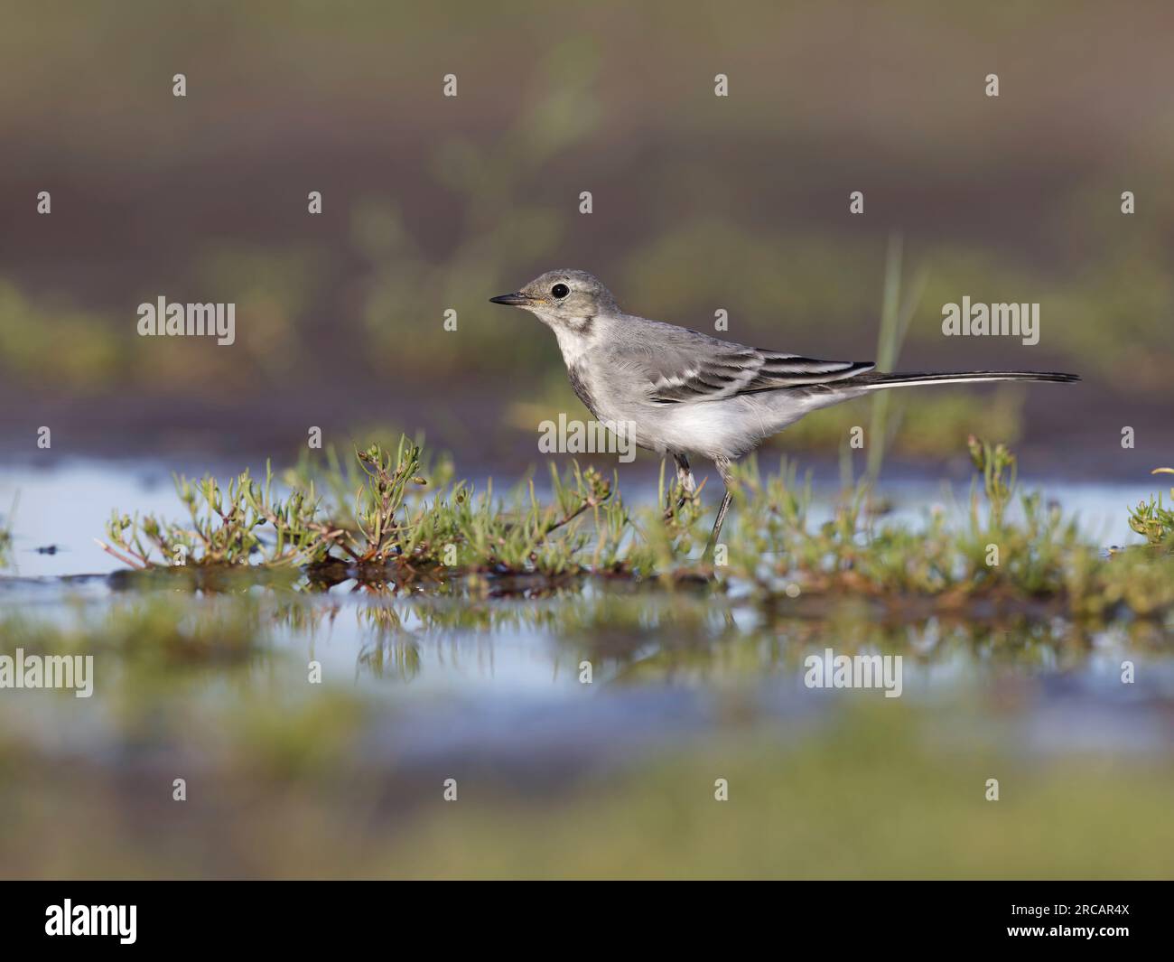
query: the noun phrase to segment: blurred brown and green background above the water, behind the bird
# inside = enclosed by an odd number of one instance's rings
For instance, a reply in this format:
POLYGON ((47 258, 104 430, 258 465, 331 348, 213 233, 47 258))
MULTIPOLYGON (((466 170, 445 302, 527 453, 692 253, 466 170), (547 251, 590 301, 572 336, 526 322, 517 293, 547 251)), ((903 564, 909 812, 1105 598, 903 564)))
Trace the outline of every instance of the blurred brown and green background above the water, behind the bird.
MULTIPOLYGON (((580 406, 549 332, 487 297, 579 267, 636 314, 711 331, 724 308, 731 339, 855 358, 893 231, 927 277, 902 366, 1089 382, 922 395, 898 452, 992 425, 1058 457, 1119 450, 1121 424, 1152 426, 1154 463, 1174 445, 1166 5, 2 7, 0 431, 18 448, 50 415, 107 453, 387 422, 492 460, 580 406), (237 343, 139 337, 160 295, 235 302, 237 343), (1040 343, 944 338, 964 295, 1039 302, 1040 343)), ((789 443, 835 450, 844 418, 789 443)))

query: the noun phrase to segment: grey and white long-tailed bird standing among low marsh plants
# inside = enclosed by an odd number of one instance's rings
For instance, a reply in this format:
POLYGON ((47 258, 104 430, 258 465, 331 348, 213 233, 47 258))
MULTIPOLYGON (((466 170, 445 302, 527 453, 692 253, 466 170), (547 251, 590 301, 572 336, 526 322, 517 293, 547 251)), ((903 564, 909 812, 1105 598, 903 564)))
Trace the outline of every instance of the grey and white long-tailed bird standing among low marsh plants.
POLYGON ((871 361, 751 348, 626 314, 585 270, 549 270, 490 302, 527 310, 551 328, 587 410, 623 425, 637 446, 672 455, 684 492, 696 491, 689 457, 714 462, 724 492, 707 552, 729 511, 734 463, 811 411, 889 388, 1080 379, 1052 371, 884 374, 871 361))

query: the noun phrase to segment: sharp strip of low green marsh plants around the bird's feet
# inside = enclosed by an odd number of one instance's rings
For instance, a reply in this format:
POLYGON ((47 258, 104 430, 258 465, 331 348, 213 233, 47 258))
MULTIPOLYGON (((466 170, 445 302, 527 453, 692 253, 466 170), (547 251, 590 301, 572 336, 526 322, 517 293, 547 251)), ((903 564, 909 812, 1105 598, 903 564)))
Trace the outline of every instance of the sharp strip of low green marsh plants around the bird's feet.
MULTIPOLYGON (((477 491, 452 480, 446 459, 430 477, 421 445, 406 438, 393 451, 357 451, 345 471, 335 457, 303 465, 288 476, 296 483, 286 492, 268 470, 264 483, 245 472, 223 489, 211 478, 181 478, 188 520, 116 513, 103 547, 131 567, 297 566, 315 585, 355 579, 379 591, 416 581, 430 590, 452 583, 486 594, 546 593, 592 576, 664 587, 700 581, 770 605, 798 594, 853 596, 897 608, 1046 605, 1094 618, 1174 606, 1167 552, 1106 557, 1059 506, 1020 491, 1006 445, 972 437, 969 451, 976 470, 969 502, 931 509, 923 524, 870 510, 868 476, 830 511, 816 511, 810 477, 801 480, 792 463, 764 476, 748 458, 736 467, 734 526, 715 565, 699 559, 707 530, 700 490, 667 484, 663 464, 656 504, 633 511, 614 478, 578 463, 561 472, 551 465, 546 499, 533 480, 506 497, 492 480, 477 491)), ((1131 525, 1163 544, 1170 520, 1159 498, 1134 510, 1131 525)))

